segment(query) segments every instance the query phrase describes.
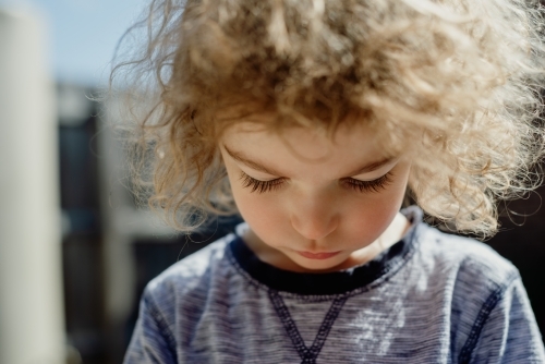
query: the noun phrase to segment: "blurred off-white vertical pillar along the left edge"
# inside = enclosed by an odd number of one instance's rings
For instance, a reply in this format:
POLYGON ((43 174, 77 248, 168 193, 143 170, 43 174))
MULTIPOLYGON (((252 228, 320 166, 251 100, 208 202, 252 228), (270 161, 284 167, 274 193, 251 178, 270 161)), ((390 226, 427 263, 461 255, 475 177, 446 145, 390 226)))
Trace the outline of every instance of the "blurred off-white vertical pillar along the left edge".
POLYGON ((64 362, 46 31, 37 15, 0 9, 0 364, 64 362))

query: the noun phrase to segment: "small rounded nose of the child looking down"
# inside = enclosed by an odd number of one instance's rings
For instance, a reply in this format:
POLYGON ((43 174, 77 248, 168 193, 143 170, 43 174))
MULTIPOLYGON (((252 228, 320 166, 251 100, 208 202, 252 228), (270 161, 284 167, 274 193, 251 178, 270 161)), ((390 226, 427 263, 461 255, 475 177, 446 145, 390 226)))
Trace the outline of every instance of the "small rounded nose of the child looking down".
POLYGON ((291 226, 303 238, 320 240, 337 229, 339 219, 330 204, 305 198, 293 207, 291 226))

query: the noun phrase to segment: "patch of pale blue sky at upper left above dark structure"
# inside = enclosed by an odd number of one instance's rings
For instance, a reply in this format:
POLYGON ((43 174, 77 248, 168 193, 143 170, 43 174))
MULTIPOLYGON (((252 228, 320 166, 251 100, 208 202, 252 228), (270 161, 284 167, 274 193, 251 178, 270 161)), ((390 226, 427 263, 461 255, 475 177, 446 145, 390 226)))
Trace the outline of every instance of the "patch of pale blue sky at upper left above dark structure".
POLYGON ((59 81, 95 86, 107 80, 116 44, 146 0, 0 0, 37 9, 49 27, 51 70, 59 81))

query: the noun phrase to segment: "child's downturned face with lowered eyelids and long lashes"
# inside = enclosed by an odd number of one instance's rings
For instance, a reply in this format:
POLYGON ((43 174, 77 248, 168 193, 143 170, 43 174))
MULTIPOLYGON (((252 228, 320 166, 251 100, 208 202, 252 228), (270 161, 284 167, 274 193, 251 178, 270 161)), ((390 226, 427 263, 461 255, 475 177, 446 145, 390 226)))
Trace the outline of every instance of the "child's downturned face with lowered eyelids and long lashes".
POLYGON ((365 126, 340 129, 332 141, 305 129, 283 137, 289 146, 240 123, 220 141, 234 201, 251 228, 246 242, 263 260, 291 270, 366 262, 365 247, 393 226, 410 162, 388 159, 365 126))

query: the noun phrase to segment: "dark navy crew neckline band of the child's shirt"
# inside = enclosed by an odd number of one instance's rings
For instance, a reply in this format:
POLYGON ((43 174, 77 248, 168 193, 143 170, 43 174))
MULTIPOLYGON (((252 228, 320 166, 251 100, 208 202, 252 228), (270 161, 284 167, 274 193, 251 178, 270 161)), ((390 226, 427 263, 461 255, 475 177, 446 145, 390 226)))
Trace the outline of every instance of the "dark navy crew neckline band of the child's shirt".
POLYGON ((240 235, 229 244, 237 263, 253 279, 276 291, 298 294, 341 294, 368 286, 392 268, 400 266, 414 248, 416 227, 422 222, 422 210, 410 206, 401 213, 411 222, 403 239, 374 259, 356 267, 332 272, 295 272, 277 268, 261 260, 240 235))

